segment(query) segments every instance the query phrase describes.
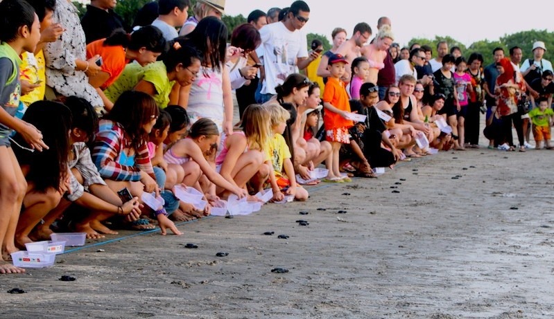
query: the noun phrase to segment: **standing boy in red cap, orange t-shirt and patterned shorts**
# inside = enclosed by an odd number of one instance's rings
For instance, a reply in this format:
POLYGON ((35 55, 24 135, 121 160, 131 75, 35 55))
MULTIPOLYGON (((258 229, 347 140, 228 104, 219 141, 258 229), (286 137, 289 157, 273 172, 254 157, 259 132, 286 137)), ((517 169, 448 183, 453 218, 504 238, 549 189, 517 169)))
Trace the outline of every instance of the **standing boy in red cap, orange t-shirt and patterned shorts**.
POLYGON ((345 83, 340 80, 346 72, 346 64, 348 62, 343 55, 335 54, 329 57, 327 70, 331 75, 327 78, 322 98, 323 107, 325 108, 323 116, 325 136, 332 145, 331 156, 329 156, 326 163, 329 174, 323 181, 332 183, 352 181, 347 176, 341 176, 338 168, 340 146, 341 144, 350 143, 348 129, 354 125, 352 120, 348 119, 348 113, 350 112, 348 93, 345 89, 345 83))

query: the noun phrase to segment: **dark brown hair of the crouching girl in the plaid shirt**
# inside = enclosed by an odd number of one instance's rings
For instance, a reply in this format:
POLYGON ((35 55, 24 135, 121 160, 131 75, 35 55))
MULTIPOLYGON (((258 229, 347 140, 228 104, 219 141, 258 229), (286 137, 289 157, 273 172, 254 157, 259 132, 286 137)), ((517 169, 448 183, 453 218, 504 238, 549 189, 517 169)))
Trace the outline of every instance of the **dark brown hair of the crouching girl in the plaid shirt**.
POLYGON ((114 107, 104 118, 119 123, 136 149, 148 141, 148 133, 143 126, 159 116, 155 100, 140 91, 125 91, 115 101, 114 107))

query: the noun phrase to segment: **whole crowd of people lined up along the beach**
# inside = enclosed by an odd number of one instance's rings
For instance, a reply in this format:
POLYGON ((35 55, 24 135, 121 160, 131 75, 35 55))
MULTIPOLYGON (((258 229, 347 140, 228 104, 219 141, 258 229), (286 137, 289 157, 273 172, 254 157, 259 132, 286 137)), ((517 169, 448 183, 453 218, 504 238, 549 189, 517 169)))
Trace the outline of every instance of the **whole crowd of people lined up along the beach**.
POLYGON ((392 24, 361 22, 333 46, 307 43, 310 8, 254 10, 227 30, 225 0, 157 0, 134 26, 115 1, 92 0, 79 19, 68 0, 0 2, 0 273, 21 273, 10 253, 54 231, 90 239, 115 229, 209 215, 231 194, 306 201, 304 185, 374 178, 436 150, 550 149, 553 69, 521 48, 467 59, 446 42, 399 48, 392 24), (230 44, 227 40, 230 39, 230 44), (370 39, 372 39, 370 41, 370 39), (239 104, 234 118, 233 91, 239 104), (321 125, 322 122, 322 125, 321 125), (324 165, 327 176, 314 179, 324 165), (175 197, 195 188, 201 211, 175 197), (149 208, 144 194, 164 199, 149 208), (110 223, 107 223, 110 221, 110 223), (110 227, 108 227, 110 226, 110 227))

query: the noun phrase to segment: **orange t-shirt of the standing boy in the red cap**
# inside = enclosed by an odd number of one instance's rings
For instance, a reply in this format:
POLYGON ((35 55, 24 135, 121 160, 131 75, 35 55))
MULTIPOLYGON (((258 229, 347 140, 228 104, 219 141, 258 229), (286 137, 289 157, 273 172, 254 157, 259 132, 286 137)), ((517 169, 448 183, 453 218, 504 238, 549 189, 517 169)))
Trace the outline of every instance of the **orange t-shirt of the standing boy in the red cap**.
MULTIPOLYGON (((350 111, 350 103, 348 102, 348 93, 346 92, 345 84, 336 78, 327 78, 322 100, 323 102, 331 103, 337 109, 347 112, 350 111)), ((354 122, 325 109, 323 124, 326 130, 330 130, 340 127, 352 127, 354 122)))

